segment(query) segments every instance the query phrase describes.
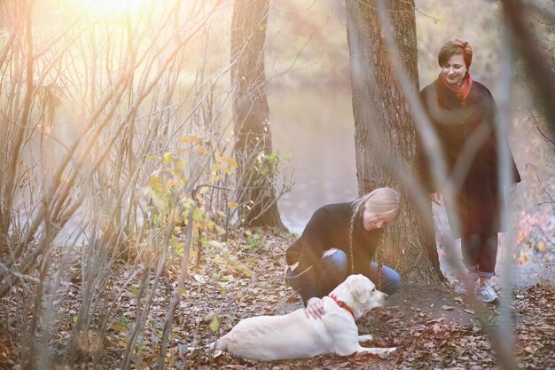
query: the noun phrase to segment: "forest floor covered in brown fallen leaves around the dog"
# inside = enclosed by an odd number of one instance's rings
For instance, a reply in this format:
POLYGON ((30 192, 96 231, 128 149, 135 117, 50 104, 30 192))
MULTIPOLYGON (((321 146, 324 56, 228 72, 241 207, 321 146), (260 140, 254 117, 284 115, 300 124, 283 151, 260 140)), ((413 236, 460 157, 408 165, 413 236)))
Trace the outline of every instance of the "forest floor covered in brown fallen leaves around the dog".
MULTIPOLYGON (((302 360, 257 362, 235 358, 223 353, 211 356, 206 350, 188 350, 214 341, 228 332, 240 319, 258 315, 280 315, 302 307, 293 290, 285 288, 285 248, 292 237, 268 231, 238 231, 228 242, 222 257, 216 250, 205 248, 203 264, 189 268, 186 289, 178 304, 170 336, 166 368, 192 369, 490 369, 502 367, 496 356, 496 328, 512 325, 514 347, 512 366, 527 369, 555 369, 555 287, 534 285, 518 287, 512 295, 512 323, 501 323, 497 305, 473 305, 455 294, 448 284, 441 286, 407 285, 388 298, 387 305, 358 320, 361 334, 371 334, 367 347, 396 347, 385 357, 374 355, 319 356, 302 360)), ((176 261, 177 262, 177 261, 176 261)), ((194 263, 194 260, 193 260, 194 263)), ((76 268, 74 273, 79 273, 76 268)), ((121 281, 129 272, 120 265, 121 281)), ((176 287, 177 264, 169 265, 161 280, 158 294, 140 336, 134 368, 156 367, 160 348, 161 327, 176 287)), ((69 276, 74 276, 72 273, 69 276)), ((79 355, 82 361, 98 361, 98 368, 117 368, 137 315, 137 298, 132 280, 128 294, 122 295, 113 308, 113 322, 102 341, 90 333, 89 343, 79 355), (98 344, 100 343, 100 344, 98 344)), ((57 303, 58 321, 51 328, 49 344, 55 349, 52 368, 65 369, 67 339, 79 310, 81 287, 79 279, 68 279, 62 285, 66 298, 57 303)), ((115 287, 114 289, 115 290, 115 287)), ((108 288, 105 294, 110 293, 108 288)), ((28 292, 27 292, 28 293, 28 292)), ((503 293, 503 292, 502 292, 503 293)), ((16 300, 25 299, 24 289, 0 301, 0 369, 17 369, 21 327, 13 312, 16 300), (12 318, 12 319, 8 319, 12 318)), ((506 332, 505 332, 506 333, 506 332)), ((503 337, 506 340, 506 336, 503 337)))

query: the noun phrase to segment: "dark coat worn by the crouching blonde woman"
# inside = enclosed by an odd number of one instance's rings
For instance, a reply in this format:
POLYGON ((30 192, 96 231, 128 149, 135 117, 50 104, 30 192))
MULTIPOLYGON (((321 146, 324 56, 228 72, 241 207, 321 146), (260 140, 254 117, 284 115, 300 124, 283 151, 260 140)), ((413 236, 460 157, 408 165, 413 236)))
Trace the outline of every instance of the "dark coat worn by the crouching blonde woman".
MULTIPOLYGON (((295 273, 300 274, 300 292, 304 302, 318 296, 318 279, 322 272, 321 261, 324 251, 337 248, 349 257, 349 232, 352 206, 350 202, 328 204, 312 215, 301 237, 287 249, 287 264, 299 265, 295 273)), ((355 271, 368 272, 371 259, 379 247, 382 229, 366 231, 361 216, 356 216, 353 228, 353 256, 355 271)), ((348 259, 350 266, 350 257, 348 259)))

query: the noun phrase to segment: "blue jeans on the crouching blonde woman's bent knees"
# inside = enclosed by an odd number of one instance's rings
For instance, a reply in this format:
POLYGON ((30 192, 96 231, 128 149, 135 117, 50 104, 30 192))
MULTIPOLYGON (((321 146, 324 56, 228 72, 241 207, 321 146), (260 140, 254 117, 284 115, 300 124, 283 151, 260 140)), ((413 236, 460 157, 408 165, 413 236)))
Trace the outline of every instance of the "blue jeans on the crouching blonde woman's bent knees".
MULTIPOLYGON (((347 279, 347 254, 340 249, 326 251, 322 257, 322 272, 318 279, 318 293, 320 296, 328 295, 335 287, 347 279)), ((378 264, 371 262, 368 270, 363 275, 374 284, 378 284, 378 264)), ((401 277, 394 269, 381 266, 381 287, 379 290, 387 295, 393 295, 401 288, 401 277)), ((378 287, 376 287, 378 288, 378 287)))

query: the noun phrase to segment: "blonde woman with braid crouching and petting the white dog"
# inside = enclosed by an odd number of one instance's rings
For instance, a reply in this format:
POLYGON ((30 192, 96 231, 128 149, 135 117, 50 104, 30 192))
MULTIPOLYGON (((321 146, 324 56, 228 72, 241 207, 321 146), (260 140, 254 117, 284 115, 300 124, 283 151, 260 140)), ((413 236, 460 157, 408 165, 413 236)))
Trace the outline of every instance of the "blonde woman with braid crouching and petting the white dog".
POLYGON ((355 201, 325 205, 312 215, 285 255, 288 265, 299 263, 294 271, 288 269, 285 281, 301 293, 307 316, 320 318, 321 298, 350 274, 364 274, 388 295, 399 290, 399 274, 371 262, 384 226, 399 214, 399 201, 395 189, 382 187, 355 201))

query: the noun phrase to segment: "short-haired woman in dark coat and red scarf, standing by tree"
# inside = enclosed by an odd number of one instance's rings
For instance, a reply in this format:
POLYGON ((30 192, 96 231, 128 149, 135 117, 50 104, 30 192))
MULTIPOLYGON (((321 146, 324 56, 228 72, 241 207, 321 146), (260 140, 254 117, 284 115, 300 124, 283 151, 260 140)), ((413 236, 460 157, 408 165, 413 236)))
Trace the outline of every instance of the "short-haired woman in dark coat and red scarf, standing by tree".
MULTIPOLYGON (((504 204, 498 180, 497 109, 488 88, 473 81, 472 59, 473 49, 464 40, 445 43, 438 54, 440 75, 420 97, 442 146, 449 171, 446 185, 454 190, 453 204, 445 206, 453 237, 461 239, 468 270, 462 280, 470 282, 457 287, 457 292, 465 294, 466 287, 473 287, 479 299, 493 302, 497 295, 490 279, 495 274, 504 204)), ((439 205, 443 186, 434 184, 426 154, 420 153, 430 199, 439 205)), ((512 154, 511 171, 514 190, 520 175, 512 154)))

